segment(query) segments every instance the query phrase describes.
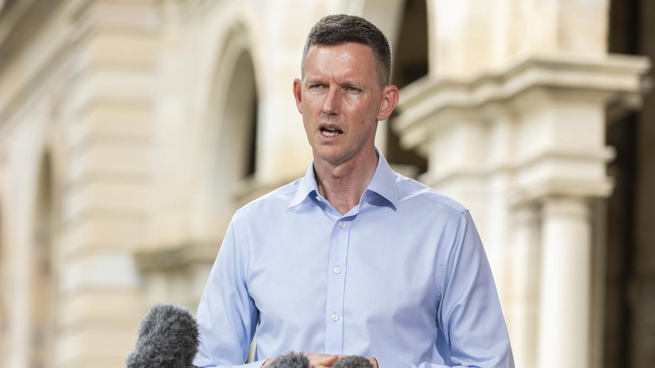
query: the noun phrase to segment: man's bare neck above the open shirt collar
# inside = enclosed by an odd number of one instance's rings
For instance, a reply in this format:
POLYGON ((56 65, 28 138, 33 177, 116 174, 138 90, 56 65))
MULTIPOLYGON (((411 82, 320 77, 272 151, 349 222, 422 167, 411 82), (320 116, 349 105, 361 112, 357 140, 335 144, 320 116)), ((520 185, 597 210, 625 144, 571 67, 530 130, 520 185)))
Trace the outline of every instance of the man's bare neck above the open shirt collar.
POLYGON ((378 158, 372 148, 341 164, 314 158, 314 176, 318 193, 342 215, 357 206, 371 182, 378 158))

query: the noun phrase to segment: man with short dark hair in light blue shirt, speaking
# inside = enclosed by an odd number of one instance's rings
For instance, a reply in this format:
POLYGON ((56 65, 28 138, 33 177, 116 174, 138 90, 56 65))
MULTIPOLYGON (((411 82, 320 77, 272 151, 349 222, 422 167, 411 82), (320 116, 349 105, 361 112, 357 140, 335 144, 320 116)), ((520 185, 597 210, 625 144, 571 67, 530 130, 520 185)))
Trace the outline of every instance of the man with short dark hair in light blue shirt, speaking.
POLYGON ((394 173, 373 142, 398 102, 391 52, 366 20, 310 31, 293 96, 314 160, 238 210, 198 306, 198 367, 514 367, 491 270, 468 211, 394 173))

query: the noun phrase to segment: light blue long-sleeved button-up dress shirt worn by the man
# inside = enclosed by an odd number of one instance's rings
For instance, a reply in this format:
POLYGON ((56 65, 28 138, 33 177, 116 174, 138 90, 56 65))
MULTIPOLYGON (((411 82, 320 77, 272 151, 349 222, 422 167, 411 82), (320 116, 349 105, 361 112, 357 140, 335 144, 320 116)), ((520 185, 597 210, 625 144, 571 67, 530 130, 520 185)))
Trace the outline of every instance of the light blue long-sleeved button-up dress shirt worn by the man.
POLYGON ((198 367, 287 350, 373 356, 380 368, 514 367, 468 210, 379 162, 345 215, 302 179, 238 210, 200 299, 198 367))

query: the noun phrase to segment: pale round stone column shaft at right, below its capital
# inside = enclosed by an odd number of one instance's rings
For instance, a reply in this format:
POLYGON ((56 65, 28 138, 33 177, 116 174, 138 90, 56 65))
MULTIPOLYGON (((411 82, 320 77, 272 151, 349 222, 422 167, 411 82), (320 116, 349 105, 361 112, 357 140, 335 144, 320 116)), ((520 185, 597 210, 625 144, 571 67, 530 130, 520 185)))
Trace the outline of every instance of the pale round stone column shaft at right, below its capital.
POLYGON ((586 198, 543 200, 537 367, 589 366, 591 221, 586 198))

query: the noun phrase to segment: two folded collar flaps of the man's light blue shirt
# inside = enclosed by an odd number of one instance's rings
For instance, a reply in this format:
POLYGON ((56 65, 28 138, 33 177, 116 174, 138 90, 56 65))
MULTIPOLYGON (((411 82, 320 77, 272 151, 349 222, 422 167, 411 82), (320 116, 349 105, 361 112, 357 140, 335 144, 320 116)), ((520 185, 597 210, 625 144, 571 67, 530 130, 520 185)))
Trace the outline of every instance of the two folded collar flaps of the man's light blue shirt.
MULTIPOLYGON (((394 206, 394 210, 396 210, 398 208, 398 188, 396 188, 396 173, 391 170, 388 162, 386 162, 386 159, 377 147, 375 147, 375 152, 379 158, 377 162, 377 168, 375 168, 375 173, 373 174, 371 182, 366 188, 366 191, 372 191, 379 194, 388 200, 394 206)), ((305 172, 305 177, 303 177, 300 182, 298 191, 291 199, 289 208, 301 204, 311 193, 318 194, 316 177, 314 176, 314 160, 312 160, 311 164, 309 164, 309 168, 307 168, 307 172, 305 172)))

